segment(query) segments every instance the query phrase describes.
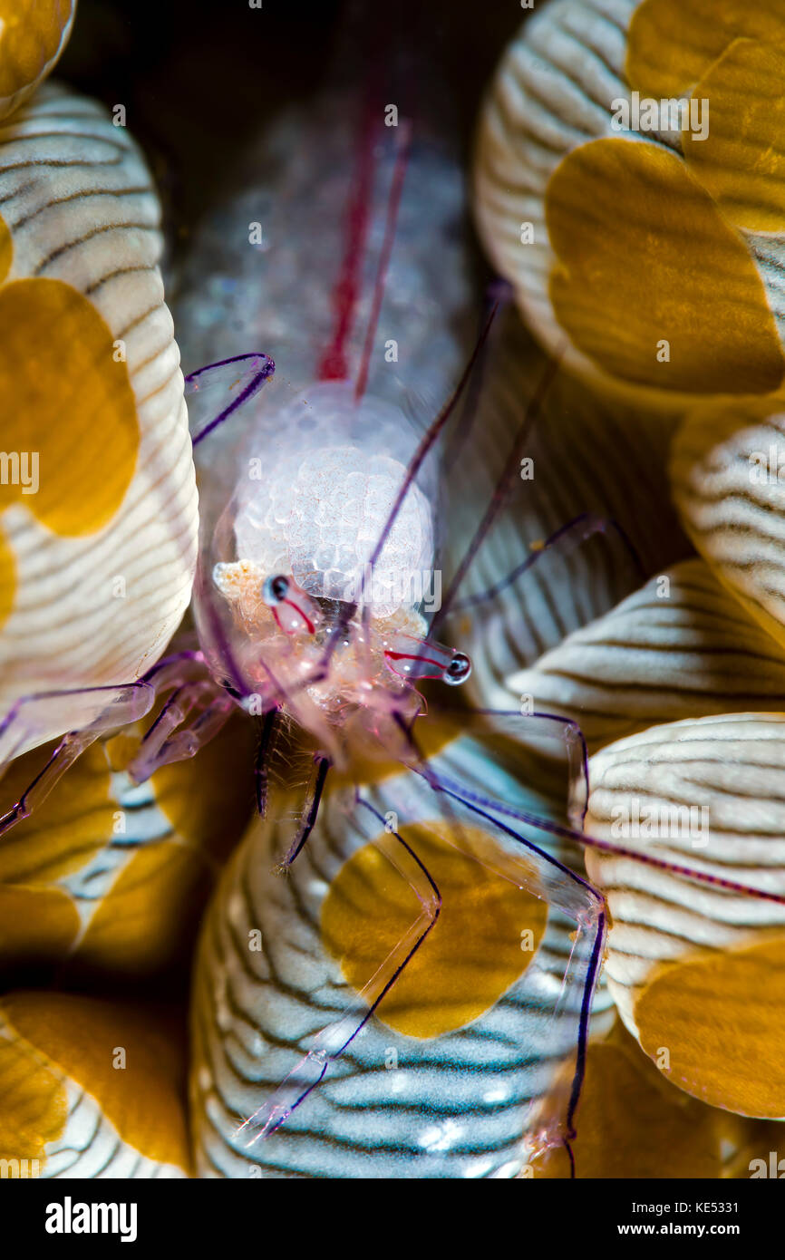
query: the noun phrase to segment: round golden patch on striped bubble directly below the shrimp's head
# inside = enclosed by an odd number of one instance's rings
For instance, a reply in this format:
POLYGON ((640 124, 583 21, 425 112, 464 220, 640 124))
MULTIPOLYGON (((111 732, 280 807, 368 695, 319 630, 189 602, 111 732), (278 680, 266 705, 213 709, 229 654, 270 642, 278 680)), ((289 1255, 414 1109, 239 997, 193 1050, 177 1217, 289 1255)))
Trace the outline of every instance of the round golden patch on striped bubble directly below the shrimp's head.
MULTIPOLYGON (((503 861, 498 845, 476 828, 432 823, 401 835, 435 879, 441 914, 374 1014, 408 1037, 438 1037, 478 1019, 525 971, 548 908, 520 886, 530 874, 524 863, 514 863, 514 874, 494 869, 503 861)), ((386 839, 392 854, 397 842, 386 839)), ((323 905, 321 935, 358 992, 410 932, 418 908, 411 885, 375 843, 340 868, 323 905)))

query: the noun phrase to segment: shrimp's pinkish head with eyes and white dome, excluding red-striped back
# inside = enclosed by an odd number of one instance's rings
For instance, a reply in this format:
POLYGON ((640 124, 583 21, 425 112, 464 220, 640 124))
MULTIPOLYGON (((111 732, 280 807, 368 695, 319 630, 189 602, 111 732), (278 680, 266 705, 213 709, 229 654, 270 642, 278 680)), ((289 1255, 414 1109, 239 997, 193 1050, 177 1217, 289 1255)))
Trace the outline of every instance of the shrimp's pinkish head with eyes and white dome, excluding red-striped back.
POLYGON ((218 522, 209 595, 263 708, 323 738, 325 721, 357 719, 387 746, 392 714, 420 711, 415 679, 470 672, 462 653, 426 641, 435 495, 427 466, 406 485, 417 433, 401 408, 334 381, 257 420, 246 451, 263 455, 239 467, 258 475, 241 472, 218 522))

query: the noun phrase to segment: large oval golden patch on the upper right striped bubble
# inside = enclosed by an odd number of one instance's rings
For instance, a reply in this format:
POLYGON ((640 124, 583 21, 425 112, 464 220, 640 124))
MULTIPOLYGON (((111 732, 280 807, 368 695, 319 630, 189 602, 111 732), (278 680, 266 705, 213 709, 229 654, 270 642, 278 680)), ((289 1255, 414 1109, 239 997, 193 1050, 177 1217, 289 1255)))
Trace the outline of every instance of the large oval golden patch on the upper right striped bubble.
POLYGON ((546 213, 559 258, 557 318, 606 372, 680 392, 780 384, 785 360, 764 282, 675 155, 629 140, 582 145, 553 173, 546 213))

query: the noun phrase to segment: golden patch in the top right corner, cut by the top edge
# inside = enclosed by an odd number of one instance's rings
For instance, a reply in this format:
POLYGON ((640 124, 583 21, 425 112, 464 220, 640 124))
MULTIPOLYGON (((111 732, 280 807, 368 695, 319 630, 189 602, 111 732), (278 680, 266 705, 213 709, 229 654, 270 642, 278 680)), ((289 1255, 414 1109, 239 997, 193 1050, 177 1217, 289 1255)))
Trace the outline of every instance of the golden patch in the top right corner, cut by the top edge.
POLYGON ((643 0, 627 34, 626 77, 644 96, 692 91, 735 39, 785 43, 781 0, 643 0))

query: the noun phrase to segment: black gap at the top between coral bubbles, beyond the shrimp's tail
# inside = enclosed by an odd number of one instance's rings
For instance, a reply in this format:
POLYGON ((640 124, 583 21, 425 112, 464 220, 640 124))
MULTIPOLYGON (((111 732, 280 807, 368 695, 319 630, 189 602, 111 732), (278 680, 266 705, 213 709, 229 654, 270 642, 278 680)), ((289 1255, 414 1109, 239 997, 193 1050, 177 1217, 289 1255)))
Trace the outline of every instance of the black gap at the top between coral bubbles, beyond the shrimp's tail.
POLYGON ((292 100, 315 94, 347 47, 407 48, 438 82, 464 152, 483 88, 524 16, 518 0, 79 0, 57 77, 122 102, 186 238, 221 194, 244 141, 292 100), (431 73, 432 72, 432 73, 431 73))

